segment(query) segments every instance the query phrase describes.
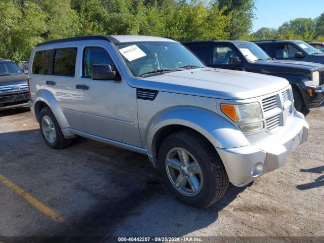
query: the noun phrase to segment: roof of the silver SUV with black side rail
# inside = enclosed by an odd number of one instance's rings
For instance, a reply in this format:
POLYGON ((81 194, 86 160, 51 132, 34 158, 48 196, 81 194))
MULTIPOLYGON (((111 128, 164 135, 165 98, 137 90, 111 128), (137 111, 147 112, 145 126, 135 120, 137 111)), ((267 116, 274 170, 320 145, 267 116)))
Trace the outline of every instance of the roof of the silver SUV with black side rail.
POLYGON ((54 41, 48 41, 39 43, 36 47, 45 46, 56 43, 76 42, 76 41, 93 41, 103 40, 111 43, 124 43, 124 42, 176 42, 171 38, 145 36, 145 35, 85 35, 64 39, 56 39, 54 41))

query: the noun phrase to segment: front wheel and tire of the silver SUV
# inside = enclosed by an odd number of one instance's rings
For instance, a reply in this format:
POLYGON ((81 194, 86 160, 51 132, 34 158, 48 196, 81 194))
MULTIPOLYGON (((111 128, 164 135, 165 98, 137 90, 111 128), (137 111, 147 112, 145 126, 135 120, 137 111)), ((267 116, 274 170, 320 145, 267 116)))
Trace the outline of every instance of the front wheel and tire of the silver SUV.
POLYGON ((159 148, 158 163, 168 188, 191 207, 208 207, 227 190, 229 181, 219 155, 194 131, 169 135, 159 148))

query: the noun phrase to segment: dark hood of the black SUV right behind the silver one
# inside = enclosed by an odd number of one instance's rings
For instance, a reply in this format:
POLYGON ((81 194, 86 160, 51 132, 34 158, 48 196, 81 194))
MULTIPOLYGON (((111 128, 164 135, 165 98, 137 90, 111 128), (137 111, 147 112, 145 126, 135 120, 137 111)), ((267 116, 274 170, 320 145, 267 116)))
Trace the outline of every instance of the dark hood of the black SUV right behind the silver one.
POLYGON ((296 70, 296 71, 305 71, 312 72, 313 70, 318 70, 324 68, 323 64, 314 63, 314 62, 302 62, 294 60, 260 60, 255 62, 256 65, 264 65, 267 67, 285 69, 285 70, 296 70))

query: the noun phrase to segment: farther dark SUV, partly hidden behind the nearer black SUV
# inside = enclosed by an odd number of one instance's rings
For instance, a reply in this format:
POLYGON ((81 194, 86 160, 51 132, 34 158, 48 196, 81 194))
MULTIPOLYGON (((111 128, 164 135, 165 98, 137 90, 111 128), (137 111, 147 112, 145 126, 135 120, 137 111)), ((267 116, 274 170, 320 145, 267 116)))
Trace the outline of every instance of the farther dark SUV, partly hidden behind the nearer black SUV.
POLYGON ((303 41, 255 41, 270 57, 324 64, 324 53, 303 41))

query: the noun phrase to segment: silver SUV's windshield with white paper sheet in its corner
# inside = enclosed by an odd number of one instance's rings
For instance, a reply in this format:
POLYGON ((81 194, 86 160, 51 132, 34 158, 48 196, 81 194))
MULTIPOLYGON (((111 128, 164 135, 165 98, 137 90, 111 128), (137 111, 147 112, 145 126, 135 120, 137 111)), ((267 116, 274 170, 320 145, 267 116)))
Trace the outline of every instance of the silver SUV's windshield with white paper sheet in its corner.
POLYGON ((205 67, 203 62, 179 43, 128 42, 115 45, 134 76, 205 67))

